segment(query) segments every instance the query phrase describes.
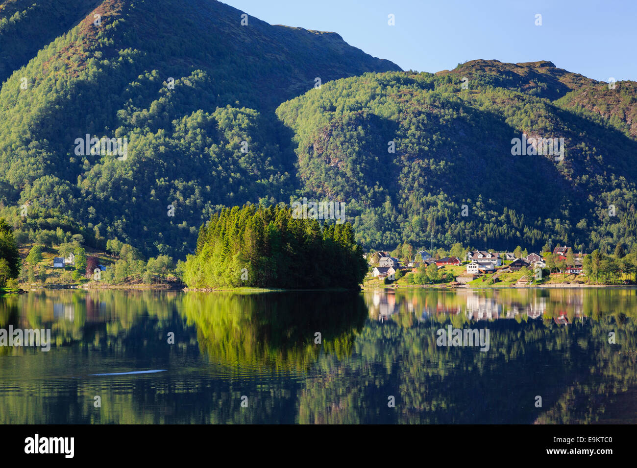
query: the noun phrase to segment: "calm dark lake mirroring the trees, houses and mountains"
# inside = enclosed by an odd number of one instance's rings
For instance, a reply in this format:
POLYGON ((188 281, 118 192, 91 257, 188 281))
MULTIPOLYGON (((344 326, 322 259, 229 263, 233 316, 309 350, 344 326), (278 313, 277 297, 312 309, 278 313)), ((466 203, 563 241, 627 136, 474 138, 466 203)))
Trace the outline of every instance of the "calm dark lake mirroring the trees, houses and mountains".
POLYGON ((0 423, 636 423, 636 323, 633 288, 34 290, 0 423))

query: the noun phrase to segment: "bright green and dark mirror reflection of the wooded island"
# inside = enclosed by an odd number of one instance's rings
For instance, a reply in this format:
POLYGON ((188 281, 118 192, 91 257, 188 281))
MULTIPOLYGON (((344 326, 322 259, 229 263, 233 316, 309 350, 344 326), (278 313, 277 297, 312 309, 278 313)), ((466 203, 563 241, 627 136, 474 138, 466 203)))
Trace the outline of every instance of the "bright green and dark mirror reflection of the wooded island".
POLYGON ((192 293, 179 311, 210 360, 273 369, 308 369, 322 352, 346 357, 366 317, 352 292, 192 293))

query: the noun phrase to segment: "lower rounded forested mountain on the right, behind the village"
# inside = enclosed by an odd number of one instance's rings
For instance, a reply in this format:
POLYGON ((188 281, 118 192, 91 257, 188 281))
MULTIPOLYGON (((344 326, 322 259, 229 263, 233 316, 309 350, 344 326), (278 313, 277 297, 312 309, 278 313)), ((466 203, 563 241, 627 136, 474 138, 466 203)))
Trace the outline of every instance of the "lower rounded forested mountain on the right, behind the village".
POLYGON ((635 83, 615 85, 547 61, 474 60, 336 80, 277 114, 301 190, 347 202, 364 246, 590 249, 637 241, 635 83), (563 139, 564 152, 513 155, 527 137, 563 139))

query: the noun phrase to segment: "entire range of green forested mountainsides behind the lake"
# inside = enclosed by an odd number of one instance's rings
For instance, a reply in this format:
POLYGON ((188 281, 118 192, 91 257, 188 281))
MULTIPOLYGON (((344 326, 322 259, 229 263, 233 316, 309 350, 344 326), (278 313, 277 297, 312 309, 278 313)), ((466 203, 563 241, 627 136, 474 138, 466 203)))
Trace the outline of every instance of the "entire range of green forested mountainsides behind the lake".
POLYGON ((183 259, 222 206, 303 196, 345 202, 365 248, 637 241, 636 83, 548 61, 403 72, 334 32, 242 15, 0 4, 0 216, 18 241, 61 228, 183 259), (522 134, 563 138, 563 159, 512 155, 522 134), (86 135, 125 155, 84 151, 86 135))

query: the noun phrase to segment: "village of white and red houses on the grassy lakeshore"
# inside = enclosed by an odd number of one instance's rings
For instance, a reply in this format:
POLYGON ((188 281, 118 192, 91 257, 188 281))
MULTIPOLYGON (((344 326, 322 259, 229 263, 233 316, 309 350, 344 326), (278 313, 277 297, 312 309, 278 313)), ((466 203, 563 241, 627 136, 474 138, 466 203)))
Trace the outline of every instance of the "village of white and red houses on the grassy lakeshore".
POLYGON ((526 286, 545 282, 553 277, 566 283, 583 283, 579 276, 583 271, 582 252, 570 246, 557 245, 552 252, 495 252, 467 250, 464 255, 444 256, 419 250, 413 259, 378 251, 366 255, 369 264, 366 285, 433 285, 458 287, 486 286, 502 283, 502 286, 526 286), (518 274, 513 274, 518 273, 518 274), (486 283, 486 284, 485 284, 486 283))

